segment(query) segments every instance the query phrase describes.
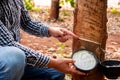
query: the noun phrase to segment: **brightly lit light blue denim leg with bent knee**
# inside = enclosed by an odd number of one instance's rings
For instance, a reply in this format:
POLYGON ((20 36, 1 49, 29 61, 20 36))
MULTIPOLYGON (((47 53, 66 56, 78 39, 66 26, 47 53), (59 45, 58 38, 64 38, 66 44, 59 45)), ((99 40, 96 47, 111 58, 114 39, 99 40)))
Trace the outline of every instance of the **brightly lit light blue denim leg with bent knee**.
POLYGON ((0 47, 0 80, 20 80, 25 64, 22 50, 16 47, 0 47))

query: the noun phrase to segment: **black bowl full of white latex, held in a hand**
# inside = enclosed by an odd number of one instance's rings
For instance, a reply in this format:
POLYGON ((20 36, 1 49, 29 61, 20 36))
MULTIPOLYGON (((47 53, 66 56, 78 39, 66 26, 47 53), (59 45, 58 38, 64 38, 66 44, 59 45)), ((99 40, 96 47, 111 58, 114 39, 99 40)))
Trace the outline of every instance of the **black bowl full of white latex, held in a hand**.
POLYGON ((75 60, 74 66, 83 72, 93 70, 98 64, 96 55, 87 49, 75 51, 72 55, 72 59, 75 60))

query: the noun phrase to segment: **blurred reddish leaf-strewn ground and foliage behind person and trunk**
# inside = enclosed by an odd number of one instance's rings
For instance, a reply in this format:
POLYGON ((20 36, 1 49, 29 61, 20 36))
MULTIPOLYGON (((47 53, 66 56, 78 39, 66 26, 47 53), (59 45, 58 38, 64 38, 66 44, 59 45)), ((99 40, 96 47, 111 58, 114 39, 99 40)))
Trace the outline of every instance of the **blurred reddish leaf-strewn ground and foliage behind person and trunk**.
MULTIPOLYGON (((24 0, 25 7, 30 12, 31 18, 48 26, 63 27, 73 30, 74 0, 60 0, 59 17, 50 19, 51 0, 24 0)), ((107 8, 106 59, 120 59, 120 0, 108 0, 107 8)), ((50 37, 35 37, 21 30, 21 42, 36 51, 40 51, 54 58, 70 58, 72 54, 72 39, 65 43, 50 37)), ((70 76, 66 76, 69 80, 70 76)))

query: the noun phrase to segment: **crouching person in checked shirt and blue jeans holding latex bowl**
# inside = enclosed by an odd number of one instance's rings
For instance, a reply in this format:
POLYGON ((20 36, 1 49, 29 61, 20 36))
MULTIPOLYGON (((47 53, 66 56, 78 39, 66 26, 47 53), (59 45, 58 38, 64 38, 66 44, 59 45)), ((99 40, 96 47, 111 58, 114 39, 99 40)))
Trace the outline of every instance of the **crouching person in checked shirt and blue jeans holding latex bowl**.
POLYGON ((20 28, 61 42, 69 36, 77 38, 66 29, 30 19, 22 0, 0 0, 0 80, 63 80, 63 73, 84 75, 73 67, 72 59, 53 59, 20 44, 20 28))

